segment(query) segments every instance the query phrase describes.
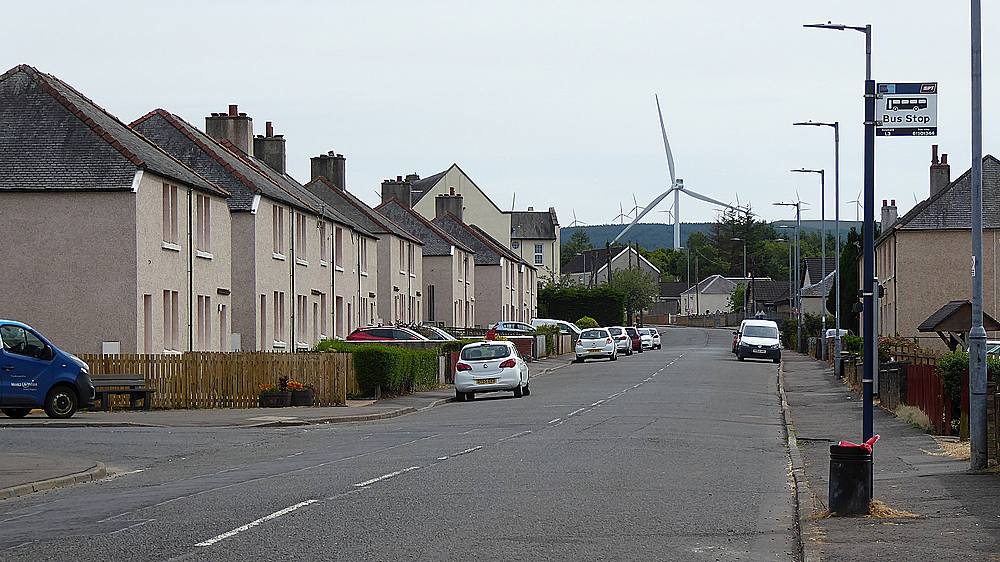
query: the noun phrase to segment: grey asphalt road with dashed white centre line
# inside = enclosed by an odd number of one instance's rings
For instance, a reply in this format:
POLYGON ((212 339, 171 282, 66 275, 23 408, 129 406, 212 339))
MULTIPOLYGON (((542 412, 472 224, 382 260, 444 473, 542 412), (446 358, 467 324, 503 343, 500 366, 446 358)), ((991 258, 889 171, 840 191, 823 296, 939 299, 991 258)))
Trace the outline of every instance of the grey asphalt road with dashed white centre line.
POLYGON ((776 365, 730 338, 381 422, 0 430, 122 472, 0 502, 0 560, 795 560, 776 365))

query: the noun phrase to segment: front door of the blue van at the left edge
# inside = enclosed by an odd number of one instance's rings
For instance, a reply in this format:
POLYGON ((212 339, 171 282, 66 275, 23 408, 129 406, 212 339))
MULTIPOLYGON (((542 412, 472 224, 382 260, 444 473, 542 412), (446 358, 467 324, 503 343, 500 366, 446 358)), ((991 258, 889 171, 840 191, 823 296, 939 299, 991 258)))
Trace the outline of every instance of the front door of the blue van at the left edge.
POLYGON ((0 398, 8 406, 40 406, 48 384, 52 350, 41 338, 20 326, 0 325, 0 398))

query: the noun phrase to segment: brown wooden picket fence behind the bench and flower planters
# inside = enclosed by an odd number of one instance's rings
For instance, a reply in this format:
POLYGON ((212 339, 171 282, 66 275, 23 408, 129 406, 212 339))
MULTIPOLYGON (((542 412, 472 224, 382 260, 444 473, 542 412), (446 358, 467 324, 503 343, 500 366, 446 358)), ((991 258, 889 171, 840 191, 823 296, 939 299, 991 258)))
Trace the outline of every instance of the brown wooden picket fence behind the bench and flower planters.
MULTIPOLYGON (((153 407, 256 408, 262 385, 287 376, 315 388, 316 406, 342 406, 354 380, 350 353, 188 352, 81 355, 91 376, 137 374, 155 389, 153 407)), ((355 383, 356 385, 357 383, 355 383)), ((116 404, 117 406, 117 404, 116 404)))

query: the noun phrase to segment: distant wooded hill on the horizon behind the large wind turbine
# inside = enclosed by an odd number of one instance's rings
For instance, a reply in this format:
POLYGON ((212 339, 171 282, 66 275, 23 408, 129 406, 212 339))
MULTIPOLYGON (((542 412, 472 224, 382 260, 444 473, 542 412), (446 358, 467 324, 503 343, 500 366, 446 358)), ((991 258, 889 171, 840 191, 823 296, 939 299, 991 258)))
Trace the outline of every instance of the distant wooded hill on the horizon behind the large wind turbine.
MULTIPOLYGON (((702 232, 704 234, 709 234, 712 231, 712 226, 714 222, 682 222, 681 223, 681 245, 687 245, 688 236, 694 232, 702 232)), ((782 225, 795 226, 795 221, 775 221, 771 223, 774 228, 778 228, 782 225)), ((802 221, 802 231, 803 232, 819 232, 821 226, 821 221, 818 220, 808 220, 802 221)), ((834 223, 832 220, 826 221, 826 230, 830 234, 833 234, 834 223)), ((861 223, 855 221, 840 221, 840 232, 841 239, 847 236, 847 233, 851 228, 857 228, 861 230, 861 223)), ((564 226, 561 229, 561 243, 565 244, 569 242, 573 233, 577 230, 583 230, 590 237, 591 244, 595 248, 601 248, 604 246, 605 242, 610 242, 614 240, 615 236, 625 228, 625 225, 621 224, 598 224, 598 225, 588 225, 588 226, 564 226)), ((631 230, 625 235, 629 241, 638 242, 640 246, 648 250, 655 250, 656 248, 673 248, 674 247, 674 225, 664 224, 664 223, 639 223, 632 227, 631 230)))

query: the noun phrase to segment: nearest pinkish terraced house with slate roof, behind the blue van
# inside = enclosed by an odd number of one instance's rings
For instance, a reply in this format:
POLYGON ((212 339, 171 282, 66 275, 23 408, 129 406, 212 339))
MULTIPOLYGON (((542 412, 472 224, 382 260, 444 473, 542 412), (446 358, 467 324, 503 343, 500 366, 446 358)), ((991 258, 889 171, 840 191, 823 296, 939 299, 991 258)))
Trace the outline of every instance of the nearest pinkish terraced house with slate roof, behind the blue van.
POLYGON ((228 349, 229 197, 55 76, 0 75, 0 316, 76 353, 228 349))

